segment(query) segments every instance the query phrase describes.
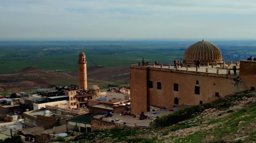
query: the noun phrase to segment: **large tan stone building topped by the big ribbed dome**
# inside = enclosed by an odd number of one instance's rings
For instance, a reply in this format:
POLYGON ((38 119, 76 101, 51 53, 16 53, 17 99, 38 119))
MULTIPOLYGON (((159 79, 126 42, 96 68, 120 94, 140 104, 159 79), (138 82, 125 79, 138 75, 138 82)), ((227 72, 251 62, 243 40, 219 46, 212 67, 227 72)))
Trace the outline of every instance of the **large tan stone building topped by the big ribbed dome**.
POLYGON ((131 113, 199 105, 254 90, 255 71, 256 61, 224 62, 217 46, 204 40, 196 42, 185 51, 182 68, 157 62, 130 65, 131 113), (197 60, 200 68, 195 67, 197 60))

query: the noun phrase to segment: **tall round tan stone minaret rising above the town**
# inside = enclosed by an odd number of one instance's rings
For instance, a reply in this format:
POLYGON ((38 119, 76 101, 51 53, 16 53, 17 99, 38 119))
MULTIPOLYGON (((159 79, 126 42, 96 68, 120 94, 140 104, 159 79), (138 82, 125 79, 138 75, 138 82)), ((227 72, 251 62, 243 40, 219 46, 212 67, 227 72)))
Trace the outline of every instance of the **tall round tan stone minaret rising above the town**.
POLYGON ((79 53, 78 57, 79 88, 87 90, 87 72, 85 53, 79 53))

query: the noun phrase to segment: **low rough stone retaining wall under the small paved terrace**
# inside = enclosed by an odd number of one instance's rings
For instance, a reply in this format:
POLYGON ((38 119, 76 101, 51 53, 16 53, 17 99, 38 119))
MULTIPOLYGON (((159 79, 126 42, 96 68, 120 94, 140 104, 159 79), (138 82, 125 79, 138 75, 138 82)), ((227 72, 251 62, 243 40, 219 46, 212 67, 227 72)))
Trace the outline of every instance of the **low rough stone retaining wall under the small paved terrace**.
POLYGON ((97 118, 91 118, 91 129, 92 130, 109 130, 115 127, 119 127, 119 128, 123 128, 126 127, 123 124, 119 124, 119 123, 112 123, 112 122, 108 122, 108 121, 104 121, 104 120, 100 120, 97 118))

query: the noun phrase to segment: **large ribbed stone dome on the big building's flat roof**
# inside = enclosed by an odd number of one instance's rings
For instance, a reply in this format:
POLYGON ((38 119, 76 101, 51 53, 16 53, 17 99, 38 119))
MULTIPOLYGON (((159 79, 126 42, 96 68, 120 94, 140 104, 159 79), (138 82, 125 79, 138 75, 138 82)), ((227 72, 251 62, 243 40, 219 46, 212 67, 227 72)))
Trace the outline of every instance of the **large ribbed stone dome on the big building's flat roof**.
POLYGON ((210 42, 196 42, 184 53, 183 61, 186 63, 194 63, 200 60, 200 63, 215 63, 222 62, 221 51, 217 46, 210 42))

